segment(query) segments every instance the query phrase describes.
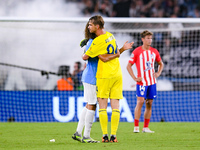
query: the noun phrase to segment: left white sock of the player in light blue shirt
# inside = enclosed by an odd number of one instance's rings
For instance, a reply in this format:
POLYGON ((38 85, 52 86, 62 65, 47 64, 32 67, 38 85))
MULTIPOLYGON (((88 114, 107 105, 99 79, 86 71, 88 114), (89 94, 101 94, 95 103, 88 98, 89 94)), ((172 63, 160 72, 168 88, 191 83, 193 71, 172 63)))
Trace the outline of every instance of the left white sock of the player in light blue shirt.
POLYGON ((78 134, 81 134, 81 135, 82 135, 83 128, 85 126, 86 112, 87 112, 87 108, 84 107, 83 110, 82 110, 82 112, 81 112, 81 115, 80 115, 80 118, 79 118, 79 122, 78 122, 78 126, 77 126, 77 129, 76 129, 76 131, 78 132, 78 134))

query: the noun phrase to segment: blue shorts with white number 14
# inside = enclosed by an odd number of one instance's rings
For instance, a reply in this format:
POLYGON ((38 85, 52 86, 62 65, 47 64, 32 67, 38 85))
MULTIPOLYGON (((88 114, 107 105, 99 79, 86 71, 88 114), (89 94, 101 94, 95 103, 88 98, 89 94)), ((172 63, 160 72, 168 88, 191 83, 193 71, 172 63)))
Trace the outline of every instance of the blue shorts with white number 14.
POLYGON ((145 99, 156 99, 156 84, 149 86, 136 85, 137 97, 144 97, 145 99))

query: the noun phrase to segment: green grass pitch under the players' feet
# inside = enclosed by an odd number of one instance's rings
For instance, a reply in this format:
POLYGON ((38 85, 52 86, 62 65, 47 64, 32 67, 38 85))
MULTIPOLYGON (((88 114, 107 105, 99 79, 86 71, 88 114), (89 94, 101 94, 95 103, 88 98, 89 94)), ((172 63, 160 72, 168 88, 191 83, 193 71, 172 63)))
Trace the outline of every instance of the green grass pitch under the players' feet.
MULTIPOLYGON (((143 123, 140 123, 142 129, 143 123)), ((0 150, 195 150, 200 149, 199 123, 150 123, 155 131, 133 133, 133 123, 120 122, 119 143, 80 143, 72 140, 77 123, 0 123, 0 150), (54 143, 49 142, 55 139, 54 143)), ((110 124, 108 126, 110 129, 110 124)), ((92 127, 91 137, 101 140, 98 122, 92 127)))

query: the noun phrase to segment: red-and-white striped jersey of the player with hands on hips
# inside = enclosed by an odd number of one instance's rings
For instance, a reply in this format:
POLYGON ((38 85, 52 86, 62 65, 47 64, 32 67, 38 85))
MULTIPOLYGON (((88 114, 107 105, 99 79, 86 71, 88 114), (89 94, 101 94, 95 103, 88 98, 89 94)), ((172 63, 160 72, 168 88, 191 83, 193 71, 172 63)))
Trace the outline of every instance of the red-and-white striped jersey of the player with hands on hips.
POLYGON ((136 64, 137 77, 142 77, 142 82, 137 82, 137 84, 148 86, 156 83, 156 78, 153 76, 155 61, 161 61, 161 57, 158 50, 153 47, 143 50, 140 46, 132 52, 129 63, 136 64))

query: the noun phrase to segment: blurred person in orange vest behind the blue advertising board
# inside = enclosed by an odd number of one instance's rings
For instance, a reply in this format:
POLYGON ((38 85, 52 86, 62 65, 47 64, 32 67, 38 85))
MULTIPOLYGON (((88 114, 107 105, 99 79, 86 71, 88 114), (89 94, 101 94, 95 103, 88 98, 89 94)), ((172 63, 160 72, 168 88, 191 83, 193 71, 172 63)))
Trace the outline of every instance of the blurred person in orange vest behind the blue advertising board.
POLYGON ((71 74, 69 73, 69 66, 60 66, 58 70, 58 75, 62 78, 57 81, 57 90, 59 91, 72 91, 74 89, 74 82, 72 80, 71 74))

